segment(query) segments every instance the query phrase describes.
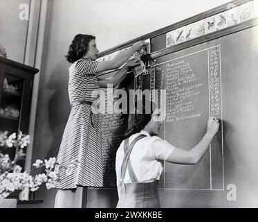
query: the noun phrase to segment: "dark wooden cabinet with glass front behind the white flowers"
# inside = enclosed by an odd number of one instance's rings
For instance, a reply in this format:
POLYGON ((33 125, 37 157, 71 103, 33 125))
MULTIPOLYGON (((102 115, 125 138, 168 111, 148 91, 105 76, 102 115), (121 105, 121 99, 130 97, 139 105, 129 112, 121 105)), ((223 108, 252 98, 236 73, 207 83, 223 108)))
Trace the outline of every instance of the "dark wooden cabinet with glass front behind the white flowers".
MULTIPOLYGON (((33 79, 39 70, 0 57, 0 131, 28 134, 33 79)), ((3 151, 11 158, 15 149, 3 151)), ((24 151, 26 152, 26 150, 24 151)), ((25 160, 19 162, 24 168, 25 160)))

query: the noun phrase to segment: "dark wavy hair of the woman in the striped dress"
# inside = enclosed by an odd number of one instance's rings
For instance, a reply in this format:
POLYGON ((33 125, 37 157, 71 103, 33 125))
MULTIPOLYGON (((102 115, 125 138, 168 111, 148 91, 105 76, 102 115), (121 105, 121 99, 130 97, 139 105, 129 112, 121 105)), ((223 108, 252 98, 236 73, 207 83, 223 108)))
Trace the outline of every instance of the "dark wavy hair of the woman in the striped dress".
POLYGON ((89 50, 89 42, 91 42, 91 40, 95 40, 95 36, 84 34, 75 35, 69 46, 68 53, 65 56, 66 60, 73 63, 83 58, 89 50))

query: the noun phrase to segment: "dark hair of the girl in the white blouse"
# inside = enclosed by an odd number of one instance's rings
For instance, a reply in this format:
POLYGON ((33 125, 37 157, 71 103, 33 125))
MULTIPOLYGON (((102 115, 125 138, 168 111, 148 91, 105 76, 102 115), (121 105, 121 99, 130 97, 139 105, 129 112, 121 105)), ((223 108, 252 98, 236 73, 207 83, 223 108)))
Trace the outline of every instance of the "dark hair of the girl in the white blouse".
POLYGON ((135 112, 129 114, 125 139, 143 130, 151 120, 151 114, 155 109, 156 104, 153 101, 140 101, 140 104, 135 107, 135 112))

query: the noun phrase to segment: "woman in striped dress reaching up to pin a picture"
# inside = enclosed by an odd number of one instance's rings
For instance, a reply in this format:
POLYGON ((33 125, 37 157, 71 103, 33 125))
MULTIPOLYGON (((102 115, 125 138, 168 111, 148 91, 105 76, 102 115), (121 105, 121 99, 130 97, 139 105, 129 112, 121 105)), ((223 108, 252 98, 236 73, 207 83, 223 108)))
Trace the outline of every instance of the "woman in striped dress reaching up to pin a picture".
POLYGON ((136 42, 112 60, 98 62, 95 37, 82 34, 74 37, 66 56, 72 63, 68 83, 71 113, 57 156, 59 182, 55 207, 73 207, 77 187, 103 186, 100 121, 98 114, 91 111, 91 106, 98 103, 100 87, 107 87, 107 84, 116 87, 130 67, 140 64, 139 56, 130 62, 127 60, 145 46, 145 42, 136 42), (122 69, 109 80, 96 76, 99 72, 118 69, 122 65, 122 69))

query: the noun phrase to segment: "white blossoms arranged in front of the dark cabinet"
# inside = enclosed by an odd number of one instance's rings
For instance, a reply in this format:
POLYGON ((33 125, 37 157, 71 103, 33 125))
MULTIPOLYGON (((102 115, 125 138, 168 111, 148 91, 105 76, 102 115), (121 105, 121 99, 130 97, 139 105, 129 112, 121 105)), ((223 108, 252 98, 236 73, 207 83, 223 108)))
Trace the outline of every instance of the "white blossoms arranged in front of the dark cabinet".
POLYGON ((26 187, 30 191, 36 191, 42 185, 46 183, 46 189, 54 188, 57 184, 57 171, 55 171, 55 165, 57 164, 55 157, 50 157, 49 160, 36 160, 33 164, 34 169, 30 171, 21 172, 22 168, 17 165, 18 160, 24 159, 26 156, 24 148, 30 143, 30 136, 24 135, 19 132, 18 137, 16 133, 8 136, 8 132, 0 131, 0 151, 4 149, 15 148, 15 158, 10 160, 8 154, 0 152, 0 199, 8 197, 15 190, 23 190, 26 187), (40 173, 35 176, 31 176, 30 172, 45 167, 46 173, 40 173))

